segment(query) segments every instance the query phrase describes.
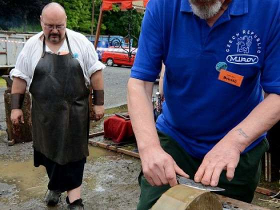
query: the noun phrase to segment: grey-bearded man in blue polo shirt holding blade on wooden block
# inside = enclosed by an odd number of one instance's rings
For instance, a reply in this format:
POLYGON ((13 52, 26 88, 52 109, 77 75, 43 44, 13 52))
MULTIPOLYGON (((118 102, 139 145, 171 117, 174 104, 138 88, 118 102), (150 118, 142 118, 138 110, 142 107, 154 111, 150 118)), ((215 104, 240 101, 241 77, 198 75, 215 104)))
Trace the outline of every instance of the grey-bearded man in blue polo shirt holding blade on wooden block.
POLYGON ((280 119, 279 58, 279 0, 149 1, 128 81, 142 163, 138 209, 175 185, 176 173, 252 200, 265 132, 280 119), (162 61, 155 125, 150 98, 162 61))

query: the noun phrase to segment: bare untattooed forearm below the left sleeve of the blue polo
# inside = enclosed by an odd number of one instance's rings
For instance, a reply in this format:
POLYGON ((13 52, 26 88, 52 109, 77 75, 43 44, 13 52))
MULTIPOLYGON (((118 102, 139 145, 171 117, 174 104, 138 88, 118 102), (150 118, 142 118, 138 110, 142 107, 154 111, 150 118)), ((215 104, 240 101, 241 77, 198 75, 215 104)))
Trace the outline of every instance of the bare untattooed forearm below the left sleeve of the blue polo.
POLYGON ((152 82, 130 78, 127 105, 139 151, 160 145, 152 113, 152 82))

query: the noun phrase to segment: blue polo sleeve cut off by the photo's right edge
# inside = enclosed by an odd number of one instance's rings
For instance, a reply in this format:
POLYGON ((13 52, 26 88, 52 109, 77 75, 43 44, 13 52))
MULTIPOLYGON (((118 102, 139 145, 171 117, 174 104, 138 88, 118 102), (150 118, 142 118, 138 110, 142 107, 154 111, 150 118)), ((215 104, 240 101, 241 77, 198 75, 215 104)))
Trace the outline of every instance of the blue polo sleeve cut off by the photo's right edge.
POLYGON ((280 94, 280 16, 279 9, 271 24, 264 54, 264 65, 260 76, 263 90, 280 94))

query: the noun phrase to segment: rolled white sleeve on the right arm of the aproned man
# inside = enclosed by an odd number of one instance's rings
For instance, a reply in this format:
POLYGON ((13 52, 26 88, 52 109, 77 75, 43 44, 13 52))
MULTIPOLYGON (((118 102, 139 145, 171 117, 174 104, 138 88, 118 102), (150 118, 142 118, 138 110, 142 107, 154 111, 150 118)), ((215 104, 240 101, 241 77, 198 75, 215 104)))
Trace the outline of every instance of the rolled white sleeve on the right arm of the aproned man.
POLYGON ((87 69, 87 75, 90 78, 92 73, 97 70, 104 69, 106 66, 98 60, 98 55, 91 42, 86 45, 85 52, 85 69, 87 69))

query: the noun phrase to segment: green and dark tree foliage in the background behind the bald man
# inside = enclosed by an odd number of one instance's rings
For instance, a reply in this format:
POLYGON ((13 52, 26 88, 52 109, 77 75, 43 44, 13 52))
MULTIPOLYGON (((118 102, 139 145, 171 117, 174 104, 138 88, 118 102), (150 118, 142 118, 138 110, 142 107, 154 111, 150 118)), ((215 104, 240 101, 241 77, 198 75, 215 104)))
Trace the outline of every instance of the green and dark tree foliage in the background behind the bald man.
MULTIPOLYGON (((49 2, 60 3, 67 14, 67 27, 75 31, 90 34, 92 0, 0 0, 0 30, 40 31, 39 15, 43 6, 49 2)), ((94 26, 99 15, 101 0, 94 0, 94 26)), ((139 36, 143 14, 131 12, 132 34, 139 36)), ((117 5, 113 10, 105 11, 101 25, 101 34, 127 34, 129 11, 120 11, 117 5)))

